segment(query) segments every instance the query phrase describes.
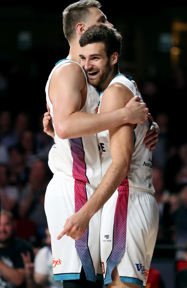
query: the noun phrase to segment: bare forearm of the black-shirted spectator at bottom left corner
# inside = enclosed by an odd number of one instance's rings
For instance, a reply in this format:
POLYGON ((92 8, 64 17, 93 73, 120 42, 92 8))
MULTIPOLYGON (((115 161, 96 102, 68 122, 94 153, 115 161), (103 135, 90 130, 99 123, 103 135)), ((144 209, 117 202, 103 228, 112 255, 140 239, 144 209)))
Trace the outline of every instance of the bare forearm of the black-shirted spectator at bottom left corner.
POLYGON ((20 273, 15 268, 8 267, 1 260, 0 260, 0 274, 1 276, 3 276, 3 278, 5 278, 6 281, 9 281, 17 286, 21 285, 25 278, 23 273, 20 273))

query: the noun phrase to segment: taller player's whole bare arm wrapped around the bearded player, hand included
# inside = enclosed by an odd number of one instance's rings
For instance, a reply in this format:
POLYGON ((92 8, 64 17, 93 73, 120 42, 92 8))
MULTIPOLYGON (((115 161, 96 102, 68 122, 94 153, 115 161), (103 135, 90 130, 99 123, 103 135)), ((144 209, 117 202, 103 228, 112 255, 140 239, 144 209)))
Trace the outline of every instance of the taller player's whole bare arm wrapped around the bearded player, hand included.
POLYGON ((138 102, 133 108, 121 107, 101 114, 79 112, 83 106, 81 90, 84 84, 85 75, 81 67, 75 63, 62 65, 51 77, 49 96, 53 104, 54 124, 59 138, 83 137, 124 123, 143 123, 146 120, 148 109, 145 104, 138 102))

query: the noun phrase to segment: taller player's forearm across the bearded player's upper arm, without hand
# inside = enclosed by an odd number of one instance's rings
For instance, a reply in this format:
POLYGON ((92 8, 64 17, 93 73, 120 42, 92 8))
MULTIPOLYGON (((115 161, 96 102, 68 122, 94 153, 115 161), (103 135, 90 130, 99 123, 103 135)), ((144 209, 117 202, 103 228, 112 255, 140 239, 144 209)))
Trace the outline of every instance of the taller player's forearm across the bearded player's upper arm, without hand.
POLYGON ((70 139, 96 134, 124 123, 129 123, 125 108, 99 114, 74 112, 58 124, 56 132, 61 139, 70 139))

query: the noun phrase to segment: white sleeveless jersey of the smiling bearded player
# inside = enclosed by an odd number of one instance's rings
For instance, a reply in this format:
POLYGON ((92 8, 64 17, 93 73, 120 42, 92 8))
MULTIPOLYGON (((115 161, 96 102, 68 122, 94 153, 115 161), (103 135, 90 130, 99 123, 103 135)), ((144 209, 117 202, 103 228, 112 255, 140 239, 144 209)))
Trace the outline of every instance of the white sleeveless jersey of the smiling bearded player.
MULTIPOLYGON (((124 74, 116 75, 108 86, 116 82, 127 86, 133 92, 134 96, 138 95, 141 98, 141 102, 143 102, 138 87, 130 76, 124 74)), ((103 92, 104 91, 100 93, 98 113, 100 113, 100 104, 102 101, 103 92)), ((146 191, 151 190, 150 192, 154 192, 154 187, 152 185, 152 152, 149 151, 149 148, 146 148, 145 144, 143 143, 148 129, 148 119, 144 124, 137 124, 136 128, 134 129, 134 151, 130 165, 130 172, 128 173, 127 177, 129 180, 129 189, 131 186, 133 186, 142 188, 142 191, 145 191, 146 189, 146 191)), ((101 178, 103 178, 112 162, 110 154, 109 131, 106 130, 98 133, 97 138, 101 158, 101 178)))

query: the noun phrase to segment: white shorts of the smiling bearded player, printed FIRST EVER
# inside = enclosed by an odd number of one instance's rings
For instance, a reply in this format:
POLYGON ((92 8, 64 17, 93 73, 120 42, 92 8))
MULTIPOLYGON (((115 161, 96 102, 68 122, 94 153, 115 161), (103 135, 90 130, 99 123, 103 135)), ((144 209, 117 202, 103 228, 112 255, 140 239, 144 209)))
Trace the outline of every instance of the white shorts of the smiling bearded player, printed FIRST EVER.
POLYGON ((125 180, 104 204, 100 249, 104 284, 115 266, 122 282, 146 286, 157 238, 159 210, 152 193, 125 180))

